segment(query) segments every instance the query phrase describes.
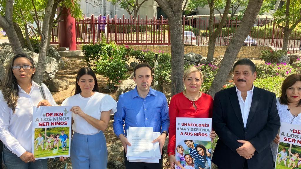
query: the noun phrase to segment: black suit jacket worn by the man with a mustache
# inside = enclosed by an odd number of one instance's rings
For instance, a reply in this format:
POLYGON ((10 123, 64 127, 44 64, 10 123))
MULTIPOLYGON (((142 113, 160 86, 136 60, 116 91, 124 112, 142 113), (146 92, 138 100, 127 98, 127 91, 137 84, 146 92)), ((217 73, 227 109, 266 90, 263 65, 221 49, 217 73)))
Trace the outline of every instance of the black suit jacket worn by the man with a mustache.
POLYGON ((236 149, 237 140, 247 140, 256 149, 247 160, 249 169, 273 169, 270 143, 280 128, 280 118, 274 93, 254 87, 246 128, 242 119, 235 86, 219 91, 214 97, 213 129, 219 139, 212 162, 219 168, 242 169, 245 158, 236 149))

